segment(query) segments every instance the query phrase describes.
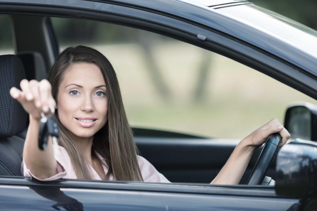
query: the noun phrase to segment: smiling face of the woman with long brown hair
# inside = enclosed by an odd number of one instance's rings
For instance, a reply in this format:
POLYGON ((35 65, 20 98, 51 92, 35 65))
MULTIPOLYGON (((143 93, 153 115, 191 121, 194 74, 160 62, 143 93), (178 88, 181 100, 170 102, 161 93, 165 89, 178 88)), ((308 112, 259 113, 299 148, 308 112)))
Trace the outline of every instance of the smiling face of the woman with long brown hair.
POLYGON ((61 123, 77 137, 92 137, 107 122, 106 83, 99 67, 77 63, 68 68, 57 95, 61 123))

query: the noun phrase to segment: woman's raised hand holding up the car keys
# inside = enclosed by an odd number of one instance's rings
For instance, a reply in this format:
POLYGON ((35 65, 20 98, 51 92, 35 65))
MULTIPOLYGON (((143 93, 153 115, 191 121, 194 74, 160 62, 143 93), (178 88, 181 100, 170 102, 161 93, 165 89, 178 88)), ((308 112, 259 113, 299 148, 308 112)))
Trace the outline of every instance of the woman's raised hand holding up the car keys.
POLYGON ((41 112, 49 113, 49 106, 55 108, 56 102, 51 92, 51 84, 48 80, 26 80, 20 82, 19 90, 16 87, 10 89, 10 95, 19 101, 24 110, 36 120, 41 119, 41 112))

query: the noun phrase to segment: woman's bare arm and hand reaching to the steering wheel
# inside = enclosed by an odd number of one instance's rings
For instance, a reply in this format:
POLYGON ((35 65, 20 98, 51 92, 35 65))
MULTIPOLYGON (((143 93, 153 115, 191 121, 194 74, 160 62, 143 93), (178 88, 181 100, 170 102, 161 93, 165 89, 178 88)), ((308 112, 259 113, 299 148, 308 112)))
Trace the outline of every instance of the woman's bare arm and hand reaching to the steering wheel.
POLYGON ((266 142, 269 135, 277 132, 282 137, 281 147, 289 139, 290 134, 275 118, 245 137, 233 150, 226 164, 210 184, 238 184, 254 151, 266 142))

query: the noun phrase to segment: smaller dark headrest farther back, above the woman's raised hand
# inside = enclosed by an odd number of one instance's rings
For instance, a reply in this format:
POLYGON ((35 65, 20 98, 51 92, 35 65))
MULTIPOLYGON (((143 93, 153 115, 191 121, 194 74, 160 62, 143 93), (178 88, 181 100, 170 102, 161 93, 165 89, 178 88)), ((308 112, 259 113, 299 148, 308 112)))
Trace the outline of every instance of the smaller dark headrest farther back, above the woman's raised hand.
POLYGON ((45 61, 40 52, 20 51, 17 56, 23 63, 27 80, 41 81, 46 78, 45 61))

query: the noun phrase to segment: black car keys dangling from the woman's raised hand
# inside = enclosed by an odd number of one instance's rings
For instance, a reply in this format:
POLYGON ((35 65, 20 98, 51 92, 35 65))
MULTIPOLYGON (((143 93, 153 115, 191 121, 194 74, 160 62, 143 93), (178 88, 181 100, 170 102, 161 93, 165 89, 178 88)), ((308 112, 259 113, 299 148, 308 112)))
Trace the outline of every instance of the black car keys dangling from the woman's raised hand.
MULTIPOLYGON (((53 107, 50 107, 50 109, 51 113, 53 114, 55 109, 53 107)), ((45 116, 43 112, 41 112, 41 116, 42 118, 40 120, 41 125, 38 137, 38 146, 41 150, 46 150, 49 136, 51 136, 53 141, 53 147, 57 148, 57 138, 59 137, 57 122, 52 117, 45 116)))

